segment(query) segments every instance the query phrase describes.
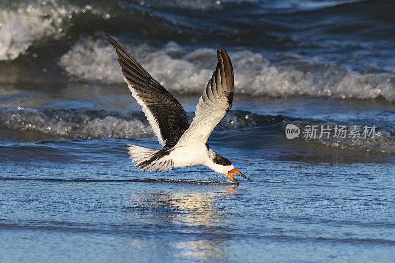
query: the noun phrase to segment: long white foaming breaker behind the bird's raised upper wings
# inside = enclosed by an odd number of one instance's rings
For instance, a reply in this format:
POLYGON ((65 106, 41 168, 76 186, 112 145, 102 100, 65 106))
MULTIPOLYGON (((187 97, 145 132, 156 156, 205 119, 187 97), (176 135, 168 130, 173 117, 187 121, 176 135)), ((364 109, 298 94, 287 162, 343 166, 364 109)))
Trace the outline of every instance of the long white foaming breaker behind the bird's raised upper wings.
MULTIPOLYGON (((187 50, 175 42, 163 47, 124 45, 142 66, 174 93, 200 93, 215 69, 215 49, 187 50)), ((287 56, 269 62, 259 53, 229 51, 235 92, 253 96, 395 100, 395 75, 361 74, 347 68, 287 56)), ((79 81, 122 83, 117 56, 104 39, 80 38, 59 65, 79 81)))

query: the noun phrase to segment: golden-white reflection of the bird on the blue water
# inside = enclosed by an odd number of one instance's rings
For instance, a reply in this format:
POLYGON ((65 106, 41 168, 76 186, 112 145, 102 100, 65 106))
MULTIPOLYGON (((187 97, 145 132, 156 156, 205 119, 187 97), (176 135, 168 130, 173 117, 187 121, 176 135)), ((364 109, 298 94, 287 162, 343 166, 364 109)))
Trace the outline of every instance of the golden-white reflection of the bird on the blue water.
POLYGON ((166 245, 176 249, 182 257, 226 260, 231 214, 221 204, 229 202, 239 189, 229 186, 215 187, 212 191, 204 187, 202 190, 204 192, 192 192, 172 187, 166 192, 134 193, 129 200, 132 207, 139 207, 139 211, 137 214, 133 212, 131 217, 146 227, 160 225, 162 230, 182 234, 182 238, 166 240, 166 245))

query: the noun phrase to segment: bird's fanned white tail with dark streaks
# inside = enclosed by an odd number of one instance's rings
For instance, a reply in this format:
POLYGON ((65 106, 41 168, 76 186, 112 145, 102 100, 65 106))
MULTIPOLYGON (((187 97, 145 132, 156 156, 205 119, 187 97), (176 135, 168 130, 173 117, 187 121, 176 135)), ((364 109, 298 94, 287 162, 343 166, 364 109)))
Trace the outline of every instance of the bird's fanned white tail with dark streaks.
POLYGON ((130 159, 136 164, 136 167, 148 171, 170 171, 173 168, 173 160, 167 157, 165 149, 154 150, 137 145, 131 145, 126 148, 130 154, 130 159))

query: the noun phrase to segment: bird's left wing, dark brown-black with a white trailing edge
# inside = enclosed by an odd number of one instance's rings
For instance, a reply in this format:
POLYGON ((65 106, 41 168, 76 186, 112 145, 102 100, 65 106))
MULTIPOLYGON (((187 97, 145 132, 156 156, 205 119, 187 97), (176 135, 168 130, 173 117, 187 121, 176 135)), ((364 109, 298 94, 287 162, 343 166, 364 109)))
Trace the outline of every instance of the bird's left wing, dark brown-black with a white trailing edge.
POLYGON ((113 38, 106 36, 106 40, 117 51, 125 81, 137 103, 142 106, 159 143, 163 148, 175 146, 189 127, 181 104, 113 38))

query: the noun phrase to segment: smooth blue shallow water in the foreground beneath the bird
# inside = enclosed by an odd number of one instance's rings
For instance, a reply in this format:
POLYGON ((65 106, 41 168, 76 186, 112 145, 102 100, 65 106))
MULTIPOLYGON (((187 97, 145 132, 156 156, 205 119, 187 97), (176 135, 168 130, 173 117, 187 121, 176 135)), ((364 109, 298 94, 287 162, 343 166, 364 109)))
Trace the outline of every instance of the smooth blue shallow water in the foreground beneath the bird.
POLYGON ((203 166, 134 168, 125 145, 154 138, 2 144, 2 260, 392 261, 394 157, 276 140, 212 136, 252 180, 238 186, 203 166))

